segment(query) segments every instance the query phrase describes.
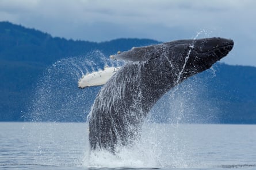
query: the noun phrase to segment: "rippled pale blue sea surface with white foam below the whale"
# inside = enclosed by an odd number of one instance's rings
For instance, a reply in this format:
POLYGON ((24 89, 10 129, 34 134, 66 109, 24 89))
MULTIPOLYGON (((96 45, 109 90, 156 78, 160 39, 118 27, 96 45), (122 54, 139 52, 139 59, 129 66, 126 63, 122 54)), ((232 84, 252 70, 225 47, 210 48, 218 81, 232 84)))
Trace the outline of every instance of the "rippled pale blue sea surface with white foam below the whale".
POLYGON ((256 169, 256 125, 152 124, 117 155, 86 123, 0 122, 0 169, 256 169))

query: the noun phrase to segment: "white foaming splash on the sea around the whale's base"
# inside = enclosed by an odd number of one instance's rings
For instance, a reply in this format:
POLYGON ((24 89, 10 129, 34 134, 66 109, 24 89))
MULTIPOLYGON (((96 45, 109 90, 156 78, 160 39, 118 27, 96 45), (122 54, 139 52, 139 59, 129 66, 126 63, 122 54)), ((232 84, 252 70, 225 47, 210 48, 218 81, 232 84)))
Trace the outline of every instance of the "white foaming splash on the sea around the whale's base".
POLYGON ((186 168, 195 165, 185 129, 166 124, 145 123, 142 136, 132 147, 120 147, 113 155, 104 149, 91 151, 83 159, 90 168, 186 168), (168 127, 168 128, 167 128, 168 127))

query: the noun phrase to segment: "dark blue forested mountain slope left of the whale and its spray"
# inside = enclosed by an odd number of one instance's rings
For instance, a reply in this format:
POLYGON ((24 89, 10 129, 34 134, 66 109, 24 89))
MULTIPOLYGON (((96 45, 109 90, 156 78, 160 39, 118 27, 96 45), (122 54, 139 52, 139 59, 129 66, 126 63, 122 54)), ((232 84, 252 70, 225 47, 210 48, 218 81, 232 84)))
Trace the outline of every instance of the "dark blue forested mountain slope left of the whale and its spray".
POLYGON ((0 22, 0 121, 23 120, 21 111, 25 110, 35 82, 47 66, 61 58, 85 55, 93 50, 109 56, 118 50, 156 43, 150 39, 74 41, 0 22))

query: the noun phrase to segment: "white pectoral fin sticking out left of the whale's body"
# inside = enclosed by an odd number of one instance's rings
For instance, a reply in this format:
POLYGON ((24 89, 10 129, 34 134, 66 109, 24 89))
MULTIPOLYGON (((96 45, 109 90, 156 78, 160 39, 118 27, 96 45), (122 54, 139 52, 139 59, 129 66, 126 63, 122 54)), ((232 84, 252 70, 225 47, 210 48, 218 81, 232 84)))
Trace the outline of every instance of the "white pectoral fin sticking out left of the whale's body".
POLYGON ((90 86, 104 85, 120 67, 106 67, 104 70, 98 70, 90 74, 83 75, 78 81, 79 88, 86 88, 90 86))

